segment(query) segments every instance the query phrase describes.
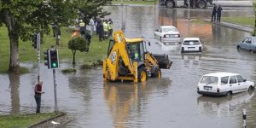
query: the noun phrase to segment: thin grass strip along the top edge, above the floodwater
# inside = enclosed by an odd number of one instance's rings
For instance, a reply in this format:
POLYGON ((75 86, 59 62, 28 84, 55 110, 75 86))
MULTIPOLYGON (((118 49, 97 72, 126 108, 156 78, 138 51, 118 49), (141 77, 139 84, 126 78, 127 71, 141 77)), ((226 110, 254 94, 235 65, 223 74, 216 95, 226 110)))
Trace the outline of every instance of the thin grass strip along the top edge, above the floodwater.
MULTIPOLYGON (((120 4, 122 0, 113 0, 113 4, 120 4)), ((143 4, 143 5, 154 5, 158 3, 157 0, 123 0, 124 4, 143 4)))

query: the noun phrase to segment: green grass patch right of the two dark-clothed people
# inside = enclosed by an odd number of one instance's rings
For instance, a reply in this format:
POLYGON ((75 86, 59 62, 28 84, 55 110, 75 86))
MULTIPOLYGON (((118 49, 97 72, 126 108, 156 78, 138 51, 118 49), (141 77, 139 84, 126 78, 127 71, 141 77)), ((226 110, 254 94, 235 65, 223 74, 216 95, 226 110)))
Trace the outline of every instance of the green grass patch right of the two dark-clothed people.
POLYGON ((221 20, 242 26, 254 26, 255 17, 222 17, 221 20))

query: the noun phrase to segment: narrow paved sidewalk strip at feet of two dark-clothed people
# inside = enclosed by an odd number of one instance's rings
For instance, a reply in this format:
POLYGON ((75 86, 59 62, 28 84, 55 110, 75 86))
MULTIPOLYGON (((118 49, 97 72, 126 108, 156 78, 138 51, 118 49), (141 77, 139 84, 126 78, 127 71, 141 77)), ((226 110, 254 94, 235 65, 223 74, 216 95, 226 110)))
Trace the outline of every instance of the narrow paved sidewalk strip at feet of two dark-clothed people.
POLYGON ((244 32, 253 32, 253 27, 250 26, 242 26, 242 25, 238 25, 238 24, 233 24, 233 23, 229 23, 229 22, 225 22, 225 21, 220 21, 219 23, 215 22, 215 21, 211 21, 211 19, 200 19, 200 20, 204 20, 208 23, 212 23, 218 26, 226 26, 226 27, 230 27, 230 28, 235 28, 237 30, 241 30, 244 32))

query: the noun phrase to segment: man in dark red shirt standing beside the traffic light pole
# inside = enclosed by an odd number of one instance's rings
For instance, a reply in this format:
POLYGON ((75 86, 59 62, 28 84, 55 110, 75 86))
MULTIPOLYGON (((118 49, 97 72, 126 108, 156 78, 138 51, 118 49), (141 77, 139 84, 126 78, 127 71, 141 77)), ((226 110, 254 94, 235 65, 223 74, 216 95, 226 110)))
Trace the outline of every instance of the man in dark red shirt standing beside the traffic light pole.
POLYGON ((44 91, 42 91, 42 85, 43 82, 40 81, 38 84, 35 86, 35 100, 37 102, 37 112, 40 113, 40 108, 41 108, 41 95, 44 94, 44 91))

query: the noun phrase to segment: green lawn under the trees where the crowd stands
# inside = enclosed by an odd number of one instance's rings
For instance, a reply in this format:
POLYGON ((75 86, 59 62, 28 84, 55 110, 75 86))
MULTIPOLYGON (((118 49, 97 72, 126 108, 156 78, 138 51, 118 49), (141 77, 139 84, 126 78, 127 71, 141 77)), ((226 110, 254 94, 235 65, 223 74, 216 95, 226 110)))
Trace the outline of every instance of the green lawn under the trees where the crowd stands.
MULTIPOLYGON (((44 44, 41 44, 41 63, 44 63, 44 52, 49 49, 51 45, 59 51, 60 64, 73 62, 73 54, 70 49, 68 49, 68 41, 71 39, 73 28, 61 27, 61 44, 55 45, 55 38, 52 36, 52 32, 49 35, 44 35, 44 44)), ((7 73, 9 68, 9 37, 7 28, 0 27, 0 73, 7 73)), ((94 34, 91 38, 90 50, 89 52, 79 52, 76 53, 76 63, 80 65, 84 62, 102 60, 107 56, 108 41, 103 42, 98 41, 98 36, 94 34)), ((38 63, 38 52, 36 49, 32 48, 32 41, 19 41, 19 53, 20 62, 30 62, 38 63)), ((20 67, 21 73, 27 73, 28 70, 24 67, 20 67)))

